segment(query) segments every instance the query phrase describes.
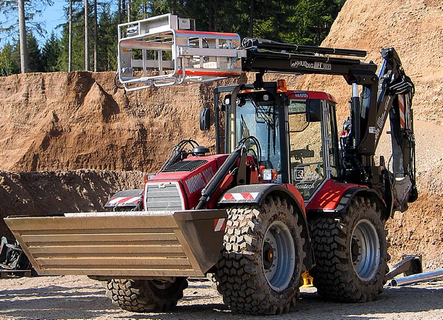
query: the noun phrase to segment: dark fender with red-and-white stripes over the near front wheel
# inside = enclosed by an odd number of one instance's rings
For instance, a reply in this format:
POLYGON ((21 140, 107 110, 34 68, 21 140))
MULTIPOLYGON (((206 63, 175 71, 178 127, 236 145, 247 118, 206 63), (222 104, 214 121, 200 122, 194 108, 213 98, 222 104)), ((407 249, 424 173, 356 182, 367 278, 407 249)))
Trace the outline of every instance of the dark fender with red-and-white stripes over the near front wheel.
POLYGON ((307 269, 315 265, 314 251, 311 244, 311 235, 306 218, 305 202, 303 198, 291 184, 249 184, 244 186, 235 186, 227 190, 219 199, 219 206, 222 208, 229 204, 258 204, 261 205, 268 195, 278 195, 286 197, 300 211, 302 217, 302 236, 306 239, 306 258, 303 262, 307 269))

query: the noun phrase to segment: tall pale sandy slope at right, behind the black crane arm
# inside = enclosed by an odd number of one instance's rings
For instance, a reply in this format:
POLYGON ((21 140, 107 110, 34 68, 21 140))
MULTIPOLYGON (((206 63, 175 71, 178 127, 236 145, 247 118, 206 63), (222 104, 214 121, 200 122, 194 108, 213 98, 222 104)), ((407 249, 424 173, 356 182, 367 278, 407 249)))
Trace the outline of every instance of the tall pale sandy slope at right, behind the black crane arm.
MULTIPOLYGON (((365 61, 381 62, 381 48, 395 47, 415 82, 414 116, 419 199, 388 223, 392 260, 423 254, 424 265, 443 267, 443 4, 435 0, 346 1, 323 46, 368 51, 365 61)), ((325 90, 349 114, 350 87, 340 77, 308 75, 298 88, 325 90)), ((389 130, 387 126, 385 131, 389 130)), ((389 154, 381 141, 379 154, 389 154)), ((386 158, 388 159, 388 158, 386 158)))

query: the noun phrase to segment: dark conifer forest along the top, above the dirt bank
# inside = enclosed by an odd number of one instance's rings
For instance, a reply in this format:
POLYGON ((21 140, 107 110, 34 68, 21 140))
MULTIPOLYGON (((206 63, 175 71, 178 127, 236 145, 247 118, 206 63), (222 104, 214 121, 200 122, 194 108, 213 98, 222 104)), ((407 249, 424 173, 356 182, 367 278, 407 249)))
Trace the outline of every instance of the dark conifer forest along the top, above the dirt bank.
MULTIPOLYGON (((26 17, 31 12, 31 8, 50 3, 50 1, 26 0, 26 17)), ((66 0, 66 4, 68 1, 66 0)), ((71 1, 73 3, 72 70, 83 70, 86 62, 84 0, 71 1)), ((128 0, 118 2, 120 6, 118 6, 118 11, 116 8, 116 12, 111 11, 111 2, 106 0, 98 1, 97 10, 89 10, 90 21, 93 21, 93 12, 94 14, 98 13, 99 19, 97 28, 94 28, 98 31, 96 39, 92 37, 92 26, 88 28, 91 34, 88 38, 91 47, 89 49, 92 49, 93 44, 96 45, 97 61, 94 66, 97 71, 116 69, 118 17, 126 21, 128 13, 128 0)), ((217 3, 207 0, 130 0, 130 13, 132 19, 145 19, 172 12, 179 17, 195 19, 197 30, 234 32, 239 33, 242 38, 252 36, 278 42, 319 45, 329 33, 332 22, 344 2, 345 0, 217 0, 217 3)), ((17 0, 0 0, 1 12, 6 11, 7 7, 4 6, 6 3, 17 8, 17 0)), ((43 52, 43 69, 46 71, 69 70, 70 33, 68 21, 66 8, 66 24, 62 26, 60 40, 57 40, 58 46, 60 46, 57 66, 53 64, 52 55, 48 56, 49 51, 43 52)), ((33 24, 28 24, 28 20, 26 22, 27 28, 28 26, 33 27, 33 24)), ((3 30, 0 25, 0 33, 3 30)), ((56 52, 55 43, 51 42, 46 45, 51 48, 51 53, 56 52)), ((13 48, 15 50, 14 45, 13 48)), ((89 60, 89 62, 93 62, 92 57, 89 60)), ((35 71, 35 67, 30 71, 35 71)))

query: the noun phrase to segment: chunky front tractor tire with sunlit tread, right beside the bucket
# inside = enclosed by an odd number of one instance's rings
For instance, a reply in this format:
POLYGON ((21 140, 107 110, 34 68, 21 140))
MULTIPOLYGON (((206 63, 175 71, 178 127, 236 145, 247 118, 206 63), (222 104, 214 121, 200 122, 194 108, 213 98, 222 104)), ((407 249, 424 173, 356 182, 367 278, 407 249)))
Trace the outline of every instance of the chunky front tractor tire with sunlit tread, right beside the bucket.
POLYGON ((305 258, 298 215, 286 199, 228 210, 215 279, 224 303, 244 314, 289 312, 299 296, 305 258))

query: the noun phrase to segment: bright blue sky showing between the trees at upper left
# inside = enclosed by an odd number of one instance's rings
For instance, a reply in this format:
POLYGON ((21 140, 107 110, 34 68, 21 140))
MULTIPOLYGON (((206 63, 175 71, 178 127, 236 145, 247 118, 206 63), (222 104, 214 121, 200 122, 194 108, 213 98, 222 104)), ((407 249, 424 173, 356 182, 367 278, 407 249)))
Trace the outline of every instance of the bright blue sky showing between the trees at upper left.
MULTIPOLYGON (((66 21, 64 17, 63 6, 68 5, 67 0, 53 0, 54 5, 47 7, 44 12, 42 12, 41 16, 36 16, 34 21, 43 22, 43 28, 46 30, 46 35, 41 37, 39 35, 35 35, 39 41, 39 46, 42 48, 44 43, 46 42, 46 38, 51 36, 52 30, 54 30, 56 35, 60 35, 61 28, 56 29, 59 24, 63 24, 66 21)), ((17 19, 17 16, 15 17, 17 19)), ((5 15, 0 13, 0 21, 6 21, 5 15)), ((18 34, 15 35, 18 38, 18 34)), ((6 37, 6 35, 0 34, 0 48, 8 41, 10 41, 12 37, 6 37)))

